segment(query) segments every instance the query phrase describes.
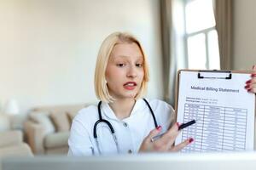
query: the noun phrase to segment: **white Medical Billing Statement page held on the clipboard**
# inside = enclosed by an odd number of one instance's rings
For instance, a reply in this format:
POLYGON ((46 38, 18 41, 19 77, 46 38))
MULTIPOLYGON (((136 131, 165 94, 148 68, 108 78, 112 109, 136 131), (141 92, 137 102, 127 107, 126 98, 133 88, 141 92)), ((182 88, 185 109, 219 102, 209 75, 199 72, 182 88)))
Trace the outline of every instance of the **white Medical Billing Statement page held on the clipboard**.
POLYGON ((255 95, 247 93, 250 74, 180 71, 177 122, 195 124, 178 135, 176 144, 195 139, 182 152, 253 150, 255 95))

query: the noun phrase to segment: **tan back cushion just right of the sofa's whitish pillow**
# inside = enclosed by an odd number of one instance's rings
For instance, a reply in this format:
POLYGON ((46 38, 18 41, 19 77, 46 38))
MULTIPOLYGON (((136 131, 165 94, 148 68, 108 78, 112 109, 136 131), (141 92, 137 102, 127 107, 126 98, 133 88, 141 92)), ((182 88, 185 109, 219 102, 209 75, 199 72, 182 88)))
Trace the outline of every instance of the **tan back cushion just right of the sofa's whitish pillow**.
POLYGON ((70 129, 70 122, 66 112, 52 112, 50 118, 55 125, 57 132, 67 132, 70 129))

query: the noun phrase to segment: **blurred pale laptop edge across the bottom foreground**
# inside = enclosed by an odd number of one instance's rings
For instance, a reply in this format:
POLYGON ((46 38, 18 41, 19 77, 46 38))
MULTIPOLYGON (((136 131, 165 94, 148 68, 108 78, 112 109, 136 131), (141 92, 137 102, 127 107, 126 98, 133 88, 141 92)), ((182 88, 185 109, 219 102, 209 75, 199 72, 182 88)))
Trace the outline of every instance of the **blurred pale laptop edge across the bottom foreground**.
POLYGON ((9 157, 2 166, 3 170, 255 170, 256 152, 9 157))

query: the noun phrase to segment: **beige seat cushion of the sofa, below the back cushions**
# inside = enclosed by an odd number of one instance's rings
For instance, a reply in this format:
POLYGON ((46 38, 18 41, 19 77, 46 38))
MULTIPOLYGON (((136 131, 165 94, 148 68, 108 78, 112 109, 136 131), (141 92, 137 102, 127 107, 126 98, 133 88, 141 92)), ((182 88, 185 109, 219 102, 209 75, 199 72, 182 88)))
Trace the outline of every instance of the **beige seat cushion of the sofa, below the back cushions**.
POLYGON ((67 146, 69 132, 49 133, 44 139, 44 147, 57 148, 67 146))

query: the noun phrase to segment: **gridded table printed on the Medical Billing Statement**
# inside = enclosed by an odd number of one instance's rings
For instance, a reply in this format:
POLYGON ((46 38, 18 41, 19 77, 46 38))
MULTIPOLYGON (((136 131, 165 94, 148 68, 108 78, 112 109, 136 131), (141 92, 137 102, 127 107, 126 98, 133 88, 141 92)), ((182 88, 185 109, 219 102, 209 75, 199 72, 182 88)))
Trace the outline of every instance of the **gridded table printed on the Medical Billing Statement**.
POLYGON ((196 123, 183 129, 182 140, 195 141, 182 152, 245 150, 246 109, 185 104, 183 122, 193 119, 196 123))

